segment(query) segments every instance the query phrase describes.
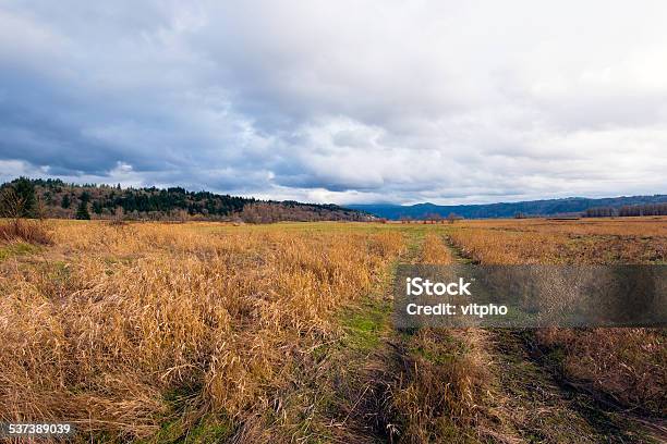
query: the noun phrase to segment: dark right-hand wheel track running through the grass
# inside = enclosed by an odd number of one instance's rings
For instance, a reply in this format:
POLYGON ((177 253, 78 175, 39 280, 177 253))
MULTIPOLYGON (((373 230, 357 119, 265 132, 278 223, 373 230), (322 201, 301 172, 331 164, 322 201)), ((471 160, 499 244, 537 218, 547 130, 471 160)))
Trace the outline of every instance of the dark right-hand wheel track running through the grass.
MULTIPOLYGON (((448 237, 445 243, 457 261, 470 262, 448 237)), ((660 442, 626 415, 603 408, 591 394, 563 386, 535 358, 531 332, 486 329, 484 337, 494 380, 495 405, 490 408, 518 442, 660 442)))

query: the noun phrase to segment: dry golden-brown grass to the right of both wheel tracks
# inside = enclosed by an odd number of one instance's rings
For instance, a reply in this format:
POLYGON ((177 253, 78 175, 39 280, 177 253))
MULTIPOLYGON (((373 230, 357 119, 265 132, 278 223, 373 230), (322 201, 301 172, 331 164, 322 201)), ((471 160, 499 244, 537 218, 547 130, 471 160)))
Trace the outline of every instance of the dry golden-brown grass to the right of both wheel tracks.
MULTIPOLYGON (((469 222, 451 238, 463 254, 488 264, 667 262, 665 218, 469 222)), ((549 329, 537 338, 562 355, 559 365, 569 378, 586 381, 623 404, 667 411, 664 331, 549 329)))

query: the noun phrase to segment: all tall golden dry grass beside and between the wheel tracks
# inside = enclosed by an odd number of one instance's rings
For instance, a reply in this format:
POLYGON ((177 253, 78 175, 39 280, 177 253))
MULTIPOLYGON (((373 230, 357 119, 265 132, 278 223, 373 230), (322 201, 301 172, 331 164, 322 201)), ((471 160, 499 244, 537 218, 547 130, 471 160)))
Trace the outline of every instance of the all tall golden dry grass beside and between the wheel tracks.
MULTIPOLYGON (((322 414, 314 406, 326 404, 318 382, 335 388, 339 375, 363 377, 331 371, 347 356, 327 351, 344 335, 338 313, 386 296, 380 281, 407 251, 407 232, 424 235, 412 259, 421 263, 456 260, 444 235, 482 263, 664 262, 664 220, 640 221, 631 229, 587 220, 408 227, 53 222, 52 245, 0 261, 0 421, 72 421, 86 432, 82 441, 160 442, 171 424, 179 425, 169 437, 178 439, 204 422, 217 440, 311 436, 306 429, 322 414)), ((568 378, 663 414, 664 337, 646 329, 537 334, 541 345, 562 351, 568 378)), ((399 342, 402 370, 391 375, 386 404, 401 440, 502 437, 489 432, 494 382, 484 331, 423 329, 399 342)), ((369 353, 366 345, 356 353, 369 353)), ((375 386, 365 383, 359 386, 375 386)), ((337 427, 357 411, 356 395, 337 427)))

